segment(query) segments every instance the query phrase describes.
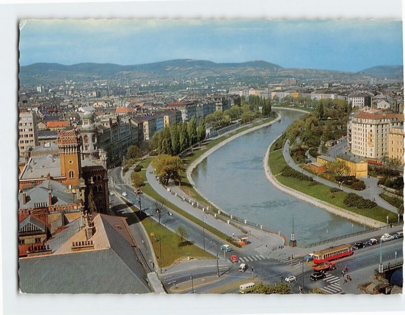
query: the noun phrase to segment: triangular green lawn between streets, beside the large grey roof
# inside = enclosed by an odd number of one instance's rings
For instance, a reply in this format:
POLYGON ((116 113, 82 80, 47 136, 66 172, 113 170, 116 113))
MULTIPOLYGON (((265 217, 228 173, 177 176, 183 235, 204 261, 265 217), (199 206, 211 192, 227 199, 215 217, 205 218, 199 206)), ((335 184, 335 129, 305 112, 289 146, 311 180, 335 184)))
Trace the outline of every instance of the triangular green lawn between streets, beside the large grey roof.
POLYGON ((145 218, 142 220, 142 224, 148 231, 150 241, 155 252, 157 262, 160 266, 160 251, 161 251, 161 267, 168 267, 173 265, 178 259, 190 257, 190 258, 204 258, 213 259, 214 256, 210 253, 200 249, 192 243, 188 243, 185 246, 178 246, 177 234, 165 228, 163 225, 158 224, 151 218, 145 218), (152 234, 151 235, 151 232, 152 234), (159 239, 161 246, 159 248, 159 239))

